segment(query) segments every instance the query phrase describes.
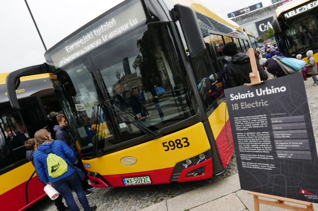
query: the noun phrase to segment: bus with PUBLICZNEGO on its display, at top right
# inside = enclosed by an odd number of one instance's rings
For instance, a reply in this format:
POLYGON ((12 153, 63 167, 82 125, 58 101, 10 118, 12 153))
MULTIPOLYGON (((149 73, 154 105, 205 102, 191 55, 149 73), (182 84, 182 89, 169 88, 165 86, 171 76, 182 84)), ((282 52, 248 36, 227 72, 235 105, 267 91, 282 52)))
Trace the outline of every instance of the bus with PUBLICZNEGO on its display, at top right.
POLYGON ((294 58, 312 50, 318 61, 318 1, 293 0, 277 7, 276 16, 272 26, 279 50, 294 58))

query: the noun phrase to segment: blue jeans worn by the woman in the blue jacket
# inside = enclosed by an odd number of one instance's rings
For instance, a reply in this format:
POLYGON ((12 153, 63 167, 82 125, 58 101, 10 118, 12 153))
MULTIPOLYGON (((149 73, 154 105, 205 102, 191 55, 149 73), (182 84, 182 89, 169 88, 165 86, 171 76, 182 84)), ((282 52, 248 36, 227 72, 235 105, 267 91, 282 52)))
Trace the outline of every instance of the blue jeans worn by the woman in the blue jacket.
POLYGON ((84 208, 84 211, 90 210, 86 195, 80 185, 79 177, 75 172, 64 179, 52 183, 52 185, 64 197, 70 211, 79 211, 79 207, 74 200, 71 188, 78 196, 79 203, 84 208))

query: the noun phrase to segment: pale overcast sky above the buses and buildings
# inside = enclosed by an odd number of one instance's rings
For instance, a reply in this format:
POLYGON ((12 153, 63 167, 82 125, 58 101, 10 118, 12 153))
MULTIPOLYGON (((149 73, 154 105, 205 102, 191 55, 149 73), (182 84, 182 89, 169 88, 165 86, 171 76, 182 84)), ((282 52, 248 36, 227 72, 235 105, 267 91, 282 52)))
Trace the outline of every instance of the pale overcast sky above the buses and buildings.
MULTIPOLYGON (((123 0, 27 0, 47 49, 123 0)), ((201 0, 223 17, 246 6, 270 0, 201 0), (220 3, 222 2, 222 4, 220 3)), ((45 62, 45 48, 24 0, 0 6, 0 73, 45 62)))

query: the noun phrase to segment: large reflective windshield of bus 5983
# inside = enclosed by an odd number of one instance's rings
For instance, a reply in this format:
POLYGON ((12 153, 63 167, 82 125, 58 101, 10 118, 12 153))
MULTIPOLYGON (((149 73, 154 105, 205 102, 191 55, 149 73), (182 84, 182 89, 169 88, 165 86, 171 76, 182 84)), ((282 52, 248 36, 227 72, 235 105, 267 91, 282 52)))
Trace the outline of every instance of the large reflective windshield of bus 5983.
POLYGON ((98 149, 107 149, 143 136, 138 125, 158 131, 192 116, 178 60, 168 24, 151 23, 57 71, 65 87, 57 91, 81 152, 92 152, 96 135, 98 149))

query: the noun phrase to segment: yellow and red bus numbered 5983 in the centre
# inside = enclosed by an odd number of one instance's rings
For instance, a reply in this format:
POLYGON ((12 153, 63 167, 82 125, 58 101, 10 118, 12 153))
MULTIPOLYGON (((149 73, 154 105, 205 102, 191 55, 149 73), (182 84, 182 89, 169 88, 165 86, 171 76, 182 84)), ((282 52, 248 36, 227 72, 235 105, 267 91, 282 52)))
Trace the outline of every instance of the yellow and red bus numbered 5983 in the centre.
POLYGON ((239 29, 194 0, 125 0, 11 72, 10 103, 19 77, 50 73, 94 187, 211 178, 234 152, 222 49, 252 47, 239 29))

